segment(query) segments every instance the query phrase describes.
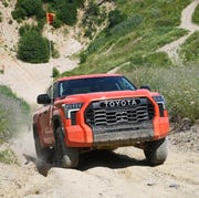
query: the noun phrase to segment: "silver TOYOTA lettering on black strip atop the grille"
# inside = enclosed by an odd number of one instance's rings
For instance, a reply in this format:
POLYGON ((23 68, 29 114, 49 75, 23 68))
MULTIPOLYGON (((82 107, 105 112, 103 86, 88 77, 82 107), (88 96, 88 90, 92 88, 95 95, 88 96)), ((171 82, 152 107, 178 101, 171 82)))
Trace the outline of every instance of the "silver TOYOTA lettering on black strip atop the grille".
POLYGON ((125 100, 112 100, 112 101, 104 101, 102 103, 105 107, 125 107, 125 106, 136 106, 139 102, 139 100, 134 98, 125 98, 125 100))

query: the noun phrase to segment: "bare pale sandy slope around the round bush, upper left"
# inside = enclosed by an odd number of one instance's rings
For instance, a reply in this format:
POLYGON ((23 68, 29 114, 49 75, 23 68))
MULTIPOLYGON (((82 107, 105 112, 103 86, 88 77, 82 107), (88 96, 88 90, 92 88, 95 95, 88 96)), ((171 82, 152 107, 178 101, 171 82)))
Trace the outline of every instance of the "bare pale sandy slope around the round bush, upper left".
POLYGON ((11 10, 10 7, 4 7, 0 1, 0 10, 2 10, 2 22, 0 23, 0 70, 4 67, 4 74, 0 74, 0 84, 8 85, 19 97, 24 98, 29 104, 35 104, 35 97, 39 93, 45 91, 51 83, 52 67, 57 67, 60 72, 72 70, 77 66, 76 60, 71 60, 70 56, 82 49, 82 44, 74 39, 75 31, 69 29, 69 34, 65 37, 65 27, 52 34, 52 30, 44 27, 44 34, 57 45, 60 58, 51 59, 49 63, 30 64, 15 59, 13 49, 18 42, 19 24, 13 21, 9 24, 11 10))

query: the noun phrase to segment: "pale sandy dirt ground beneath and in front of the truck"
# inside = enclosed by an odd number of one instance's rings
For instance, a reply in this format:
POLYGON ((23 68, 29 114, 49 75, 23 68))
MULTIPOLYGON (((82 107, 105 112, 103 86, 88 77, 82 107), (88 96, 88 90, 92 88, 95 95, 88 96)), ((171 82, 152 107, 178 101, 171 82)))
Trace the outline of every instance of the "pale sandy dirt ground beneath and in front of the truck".
POLYGON ((46 177, 36 171, 33 157, 27 155, 27 159, 20 166, 0 164, 0 196, 199 197, 199 155, 172 146, 167 161, 158 167, 146 166, 143 152, 132 147, 116 154, 86 154, 78 169, 51 168, 46 177))

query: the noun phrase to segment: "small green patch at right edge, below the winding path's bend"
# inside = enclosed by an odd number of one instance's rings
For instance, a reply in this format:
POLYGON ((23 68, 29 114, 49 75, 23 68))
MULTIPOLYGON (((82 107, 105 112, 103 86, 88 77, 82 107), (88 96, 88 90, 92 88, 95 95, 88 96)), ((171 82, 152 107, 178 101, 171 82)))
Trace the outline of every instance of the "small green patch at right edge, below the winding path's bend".
POLYGON ((180 56, 184 62, 199 63, 199 31, 191 34, 181 45, 180 56))

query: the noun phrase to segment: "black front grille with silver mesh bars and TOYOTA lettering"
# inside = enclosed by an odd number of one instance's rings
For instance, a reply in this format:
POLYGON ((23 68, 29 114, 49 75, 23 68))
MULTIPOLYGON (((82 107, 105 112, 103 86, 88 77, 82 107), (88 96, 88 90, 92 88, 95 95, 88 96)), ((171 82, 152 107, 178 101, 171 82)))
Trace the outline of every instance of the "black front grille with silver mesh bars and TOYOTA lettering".
POLYGON ((92 102, 85 111, 90 126, 139 124, 154 117, 154 107, 147 97, 92 102))

